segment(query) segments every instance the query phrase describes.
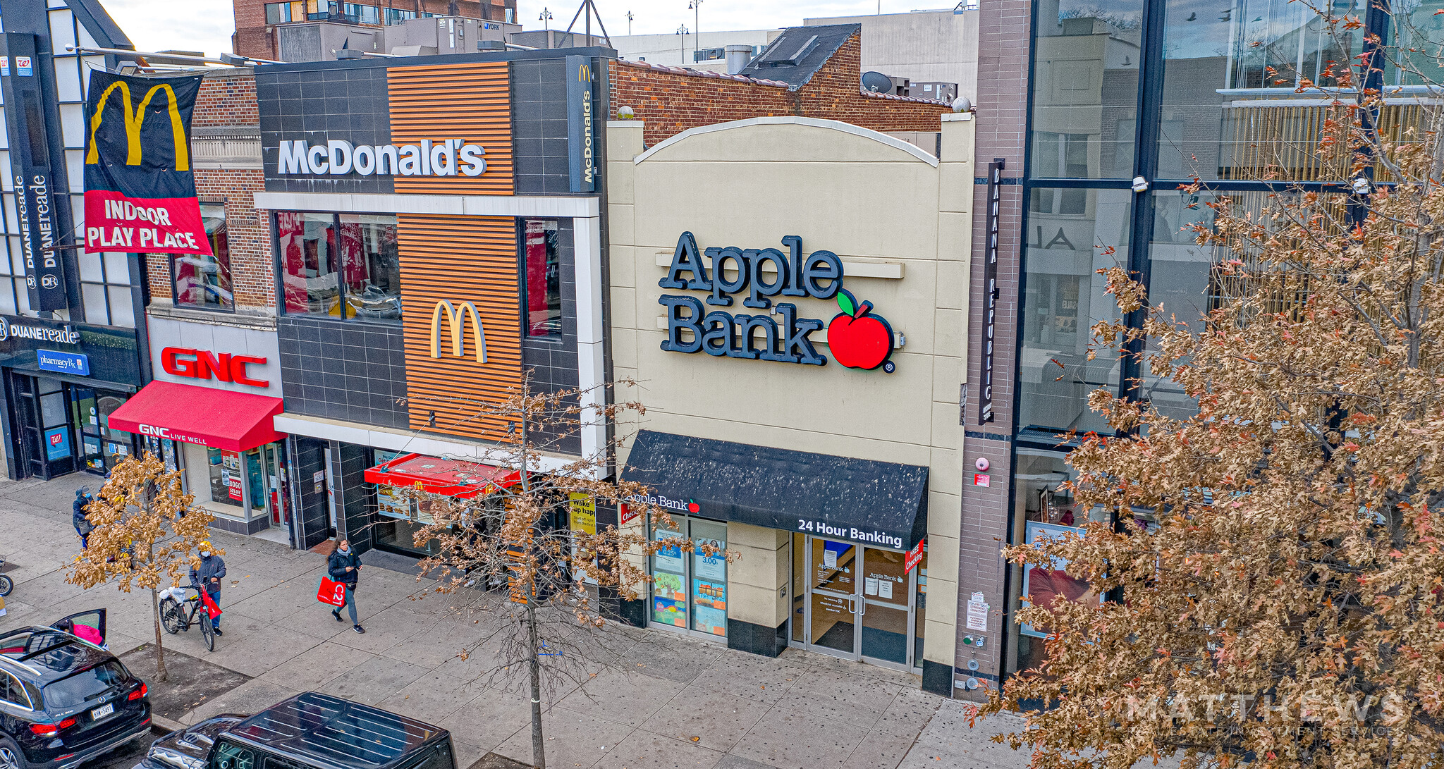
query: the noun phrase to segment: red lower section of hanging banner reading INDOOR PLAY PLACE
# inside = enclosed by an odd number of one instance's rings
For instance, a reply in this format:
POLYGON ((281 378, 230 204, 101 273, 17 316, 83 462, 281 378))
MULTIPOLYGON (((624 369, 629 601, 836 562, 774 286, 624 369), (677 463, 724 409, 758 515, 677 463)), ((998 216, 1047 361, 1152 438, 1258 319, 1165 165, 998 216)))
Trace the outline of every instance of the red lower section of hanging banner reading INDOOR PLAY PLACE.
POLYGON ((211 255, 211 242, 195 198, 126 198, 88 189, 85 251, 211 255))

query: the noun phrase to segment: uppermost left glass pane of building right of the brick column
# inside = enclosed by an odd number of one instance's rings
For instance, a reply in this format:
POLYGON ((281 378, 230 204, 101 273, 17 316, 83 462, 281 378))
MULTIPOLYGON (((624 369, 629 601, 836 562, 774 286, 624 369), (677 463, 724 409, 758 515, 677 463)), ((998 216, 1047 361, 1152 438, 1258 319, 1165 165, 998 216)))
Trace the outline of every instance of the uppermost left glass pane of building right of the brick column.
POLYGON ((1032 176, 1131 177, 1142 0, 1063 0, 1038 9, 1032 176))

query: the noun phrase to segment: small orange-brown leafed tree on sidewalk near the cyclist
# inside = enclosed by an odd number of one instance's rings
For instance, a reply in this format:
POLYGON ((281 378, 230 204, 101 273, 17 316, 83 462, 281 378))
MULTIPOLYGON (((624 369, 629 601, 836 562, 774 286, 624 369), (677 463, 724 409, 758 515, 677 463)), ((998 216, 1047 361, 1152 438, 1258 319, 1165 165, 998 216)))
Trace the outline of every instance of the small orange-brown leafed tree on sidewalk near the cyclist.
MULTIPOLYGON (((91 589, 111 583, 118 590, 150 590, 156 629, 156 680, 166 681, 157 590, 175 587, 199 564, 195 551, 211 534, 214 515, 195 508, 182 491, 180 472, 166 472, 150 454, 129 456, 116 465, 100 493, 85 508, 95 529, 69 566, 65 581, 91 589)), ((217 551, 221 553, 219 550, 217 551)))

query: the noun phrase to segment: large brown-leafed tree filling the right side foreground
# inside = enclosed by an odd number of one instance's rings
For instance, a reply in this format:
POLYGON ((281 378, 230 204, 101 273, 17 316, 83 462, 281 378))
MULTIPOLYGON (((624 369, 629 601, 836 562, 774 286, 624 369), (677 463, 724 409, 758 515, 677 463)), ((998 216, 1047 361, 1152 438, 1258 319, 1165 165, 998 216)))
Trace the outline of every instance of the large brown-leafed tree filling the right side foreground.
POLYGON ((1092 522, 1005 550, 1090 584, 1025 602, 1047 659, 979 710, 1044 703, 1006 737, 1032 766, 1444 765, 1441 115, 1389 139, 1379 91, 1330 95, 1315 153, 1352 182, 1216 198, 1206 315, 1105 270, 1147 319, 1097 323, 1095 353, 1141 356, 1197 413, 1093 392, 1113 434, 1069 454, 1092 522))

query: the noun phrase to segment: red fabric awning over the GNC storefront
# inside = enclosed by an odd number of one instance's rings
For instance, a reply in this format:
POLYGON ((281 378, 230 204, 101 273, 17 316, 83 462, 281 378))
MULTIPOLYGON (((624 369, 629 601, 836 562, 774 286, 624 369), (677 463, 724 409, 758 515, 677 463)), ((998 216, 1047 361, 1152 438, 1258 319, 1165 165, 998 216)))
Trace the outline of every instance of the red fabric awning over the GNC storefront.
POLYGON ((150 382, 111 411, 116 430, 248 452, 284 439, 271 424, 282 400, 175 382, 150 382))

